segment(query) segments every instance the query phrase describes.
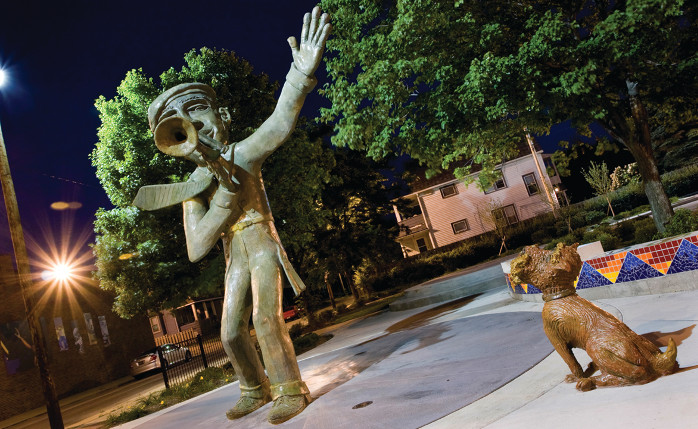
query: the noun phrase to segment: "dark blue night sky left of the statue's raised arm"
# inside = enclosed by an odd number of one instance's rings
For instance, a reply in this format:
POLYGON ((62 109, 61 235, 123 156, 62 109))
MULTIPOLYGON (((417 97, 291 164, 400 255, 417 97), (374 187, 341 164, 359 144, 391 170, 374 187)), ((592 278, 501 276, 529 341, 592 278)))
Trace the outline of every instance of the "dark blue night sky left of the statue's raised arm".
MULTIPOLYGON (((292 62, 286 39, 300 38, 312 0, 7 1, 0 7, 0 123, 30 258, 52 241, 93 240, 98 207, 111 208, 88 158, 97 141, 94 100, 112 98, 132 69, 157 77, 179 69, 192 48, 235 51, 256 72, 283 82, 292 62), (63 201, 78 209, 54 210, 63 201)), ((325 81, 324 65, 317 73, 325 81)), ((327 103, 317 93, 301 113, 327 103)), ((11 253, 4 205, 0 253, 11 253)))

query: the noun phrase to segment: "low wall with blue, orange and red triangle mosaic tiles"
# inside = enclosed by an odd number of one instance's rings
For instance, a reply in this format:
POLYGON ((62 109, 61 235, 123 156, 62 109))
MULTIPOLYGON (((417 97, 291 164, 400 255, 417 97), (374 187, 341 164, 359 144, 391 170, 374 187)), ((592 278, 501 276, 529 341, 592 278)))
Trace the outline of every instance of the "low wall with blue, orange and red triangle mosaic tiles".
MULTIPOLYGON (((608 286, 691 270, 698 270, 698 234, 695 232, 584 261, 575 287, 608 286)), ((541 293, 533 285, 512 285, 509 276, 507 284, 514 293, 541 293)))

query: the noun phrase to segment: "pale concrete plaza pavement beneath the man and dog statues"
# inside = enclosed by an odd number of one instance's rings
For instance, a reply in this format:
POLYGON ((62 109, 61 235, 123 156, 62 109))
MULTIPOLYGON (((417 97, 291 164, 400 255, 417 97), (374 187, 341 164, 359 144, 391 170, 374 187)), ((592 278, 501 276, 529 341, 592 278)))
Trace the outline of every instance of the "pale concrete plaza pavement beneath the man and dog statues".
MULTIPOLYGON (((282 428, 698 428, 698 291, 597 301, 631 329, 678 344, 681 371, 578 392, 543 334, 542 304, 505 290, 341 326, 300 357, 314 402, 282 428)), ((578 353, 583 366, 588 362, 578 353)), ((269 428, 269 405, 234 422, 237 384, 124 428, 269 428)))

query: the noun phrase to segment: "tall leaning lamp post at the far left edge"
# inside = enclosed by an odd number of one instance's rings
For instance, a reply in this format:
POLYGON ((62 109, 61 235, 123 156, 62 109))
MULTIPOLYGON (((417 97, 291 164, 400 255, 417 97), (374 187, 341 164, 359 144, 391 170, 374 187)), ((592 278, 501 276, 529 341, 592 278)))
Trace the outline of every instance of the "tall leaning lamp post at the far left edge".
MULTIPOLYGON (((5 73, 0 69, 0 86, 5 83, 5 73)), ((19 207, 17 206, 17 195, 15 187, 12 183, 10 175, 10 164, 7 158, 7 150, 5 149, 5 140, 2 136, 2 127, 0 126, 0 182, 2 183, 2 193, 5 199, 5 208, 7 209, 7 221, 10 226, 10 237, 12 238, 12 247, 15 253, 15 261, 17 263, 17 275, 19 277, 19 286, 24 299, 24 308, 27 313, 27 323, 32 337, 32 348, 34 350, 34 362, 39 368, 39 376, 41 377, 41 385, 44 392, 44 400, 46 401, 46 412, 48 414, 51 429, 63 429, 63 417, 61 416, 61 408, 58 405, 58 397, 56 395, 56 387, 53 384, 53 379, 48 370, 48 358, 44 349, 44 342, 41 338, 41 328, 36 316, 36 307, 33 295, 33 282, 31 280, 31 271, 29 269, 29 258, 27 257, 27 248, 24 243, 24 233, 22 232, 22 224, 19 217, 19 207)))

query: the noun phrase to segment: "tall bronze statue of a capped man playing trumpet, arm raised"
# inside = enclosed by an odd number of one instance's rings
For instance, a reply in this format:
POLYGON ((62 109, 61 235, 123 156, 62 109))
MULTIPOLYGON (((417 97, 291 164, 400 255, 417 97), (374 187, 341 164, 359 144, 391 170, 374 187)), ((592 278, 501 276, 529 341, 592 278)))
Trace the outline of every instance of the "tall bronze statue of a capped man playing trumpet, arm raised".
MULTIPOLYGON (((134 205, 155 209, 183 201, 189 258, 203 258, 221 239, 226 257, 221 338, 240 380, 241 396, 227 412, 240 418, 274 401, 268 420, 284 422, 310 403, 282 318, 282 288, 305 286, 288 261, 264 191, 264 160, 290 136, 330 32, 318 7, 303 19, 300 45, 288 39, 293 64, 272 115, 251 136, 228 142, 230 114, 208 85, 185 83, 158 96, 148 120, 158 147, 197 164, 175 191, 141 189, 134 205), (182 197, 182 195, 185 195, 182 197), (250 315, 267 374, 250 338, 250 315)), ((157 187, 158 185, 156 185, 157 187)))

